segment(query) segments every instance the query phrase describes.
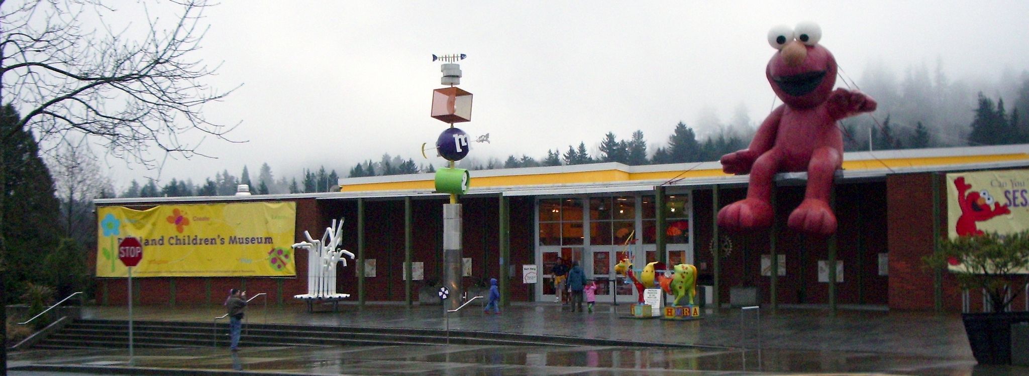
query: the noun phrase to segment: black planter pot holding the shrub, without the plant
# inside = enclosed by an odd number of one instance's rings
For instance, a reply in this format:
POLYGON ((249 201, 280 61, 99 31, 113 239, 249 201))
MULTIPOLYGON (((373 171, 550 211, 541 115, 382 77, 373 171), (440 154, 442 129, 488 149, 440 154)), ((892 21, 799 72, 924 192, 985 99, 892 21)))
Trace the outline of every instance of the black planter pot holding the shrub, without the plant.
POLYGON ((1029 323, 1029 312, 962 313, 968 345, 981 365, 1012 364, 1012 324, 1029 323))

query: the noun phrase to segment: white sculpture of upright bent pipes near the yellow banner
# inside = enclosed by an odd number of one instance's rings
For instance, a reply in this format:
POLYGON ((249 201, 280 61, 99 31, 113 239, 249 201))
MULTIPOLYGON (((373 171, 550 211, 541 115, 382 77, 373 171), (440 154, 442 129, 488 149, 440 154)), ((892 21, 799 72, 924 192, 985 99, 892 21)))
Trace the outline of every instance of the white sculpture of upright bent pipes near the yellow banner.
POLYGON ((347 250, 336 250, 343 240, 343 219, 339 224, 332 220, 332 225, 325 228, 325 234, 320 240, 311 238, 311 233, 304 231, 308 241, 293 245, 293 249, 308 250, 308 293, 293 296, 296 299, 332 300, 350 297, 350 294, 335 292, 335 264, 342 262, 347 266, 344 256, 354 259, 354 254, 347 250), (326 241, 327 240, 327 241, 326 241))

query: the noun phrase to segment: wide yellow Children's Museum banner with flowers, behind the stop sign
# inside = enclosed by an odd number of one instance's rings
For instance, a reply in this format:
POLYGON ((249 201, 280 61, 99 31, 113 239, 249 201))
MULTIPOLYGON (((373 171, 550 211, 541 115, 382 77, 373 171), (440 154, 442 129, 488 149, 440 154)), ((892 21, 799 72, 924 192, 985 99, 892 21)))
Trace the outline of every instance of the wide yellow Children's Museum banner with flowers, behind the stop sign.
POLYGON ((97 208, 97 276, 127 276, 118 242, 143 243, 134 276, 292 276, 294 202, 97 208))

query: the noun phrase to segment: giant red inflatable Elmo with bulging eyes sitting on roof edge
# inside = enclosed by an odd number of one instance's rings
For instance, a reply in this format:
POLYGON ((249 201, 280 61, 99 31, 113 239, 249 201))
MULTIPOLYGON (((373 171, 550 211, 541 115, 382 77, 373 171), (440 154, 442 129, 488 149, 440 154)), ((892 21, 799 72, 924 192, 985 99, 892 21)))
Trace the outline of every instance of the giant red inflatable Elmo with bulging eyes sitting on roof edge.
POLYGON ((721 157, 725 174, 750 174, 747 198, 718 212, 718 225, 731 229, 768 227, 773 212, 772 179, 779 172, 808 172, 805 199, 789 216, 799 231, 828 235, 837 219, 829 208, 836 171, 843 165, 843 134, 837 121, 876 110, 876 101, 859 91, 832 89, 837 63, 818 44, 821 28, 802 23, 795 29, 780 26, 769 32, 778 51, 765 76, 782 100, 761 122, 747 149, 721 157))

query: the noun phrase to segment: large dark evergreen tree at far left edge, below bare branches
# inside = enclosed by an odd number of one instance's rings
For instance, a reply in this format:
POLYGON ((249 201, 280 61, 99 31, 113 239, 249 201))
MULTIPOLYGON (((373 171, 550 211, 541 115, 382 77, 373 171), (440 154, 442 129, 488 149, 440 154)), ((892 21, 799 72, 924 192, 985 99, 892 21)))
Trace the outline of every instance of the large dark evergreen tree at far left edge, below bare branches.
MULTIPOLYGON (((36 138, 25 127, 17 126, 21 115, 13 106, 0 108, 0 143, 3 171, 0 194, 6 205, 3 213, 5 303, 20 297, 27 281, 45 284, 37 263, 57 246, 60 235, 61 202, 55 196, 54 181, 39 156, 36 138), (16 251, 16 252, 15 252, 16 251)), ((48 285, 48 284, 47 284, 48 285)))

